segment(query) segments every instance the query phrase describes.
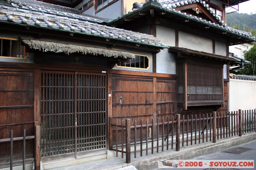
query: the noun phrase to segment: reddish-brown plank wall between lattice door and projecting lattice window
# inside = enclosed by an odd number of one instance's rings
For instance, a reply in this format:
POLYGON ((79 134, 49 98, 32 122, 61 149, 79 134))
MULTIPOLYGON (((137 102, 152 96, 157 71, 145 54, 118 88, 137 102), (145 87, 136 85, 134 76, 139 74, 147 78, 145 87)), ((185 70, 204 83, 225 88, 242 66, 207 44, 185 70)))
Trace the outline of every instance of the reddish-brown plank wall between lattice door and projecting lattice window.
MULTIPOLYGON (((162 118, 166 121, 167 117, 171 121, 171 117, 176 116, 177 113, 176 75, 146 73, 147 76, 140 76, 138 74, 140 73, 110 76, 112 89, 110 116, 113 117, 113 124, 117 122, 121 125, 121 121, 125 119, 131 119, 132 126, 135 120, 137 125, 140 125, 141 120, 142 124, 146 124, 147 119, 149 124, 152 123, 152 119, 156 123, 158 118, 159 122, 162 122, 162 118)), ((119 131, 118 137, 121 136, 119 131)), ((145 134, 143 137, 145 138, 145 134)), ((132 142, 133 138, 131 136, 132 142)), ((115 134, 112 140, 116 140, 115 134)))

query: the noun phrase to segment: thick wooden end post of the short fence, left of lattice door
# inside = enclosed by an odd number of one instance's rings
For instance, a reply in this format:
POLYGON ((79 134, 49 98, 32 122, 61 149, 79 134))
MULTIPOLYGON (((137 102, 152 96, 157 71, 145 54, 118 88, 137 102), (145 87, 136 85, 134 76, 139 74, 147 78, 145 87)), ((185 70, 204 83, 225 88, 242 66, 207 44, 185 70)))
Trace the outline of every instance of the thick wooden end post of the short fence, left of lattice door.
POLYGON ((41 135, 40 135, 40 125, 36 125, 36 130, 35 130, 35 170, 40 170, 40 161, 41 161, 41 154, 40 154, 40 150, 41 150, 41 146, 40 146, 40 139, 41 139, 41 135))

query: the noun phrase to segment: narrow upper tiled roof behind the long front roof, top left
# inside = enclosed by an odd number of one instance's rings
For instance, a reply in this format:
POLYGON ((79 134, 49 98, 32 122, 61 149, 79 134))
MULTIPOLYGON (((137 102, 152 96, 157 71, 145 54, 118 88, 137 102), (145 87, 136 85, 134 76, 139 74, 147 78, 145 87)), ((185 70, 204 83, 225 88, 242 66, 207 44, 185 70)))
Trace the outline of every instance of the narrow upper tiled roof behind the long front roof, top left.
POLYGON ((26 9, 26 10, 31 10, 31 11, 41 11, 44 13, 51 13, 51 14, 56 14, 56 15, 60 15, 60 16, 85 19, 88 21, 94 21, 94 22, 99 22, 99 23, 108 22, 108 18, 97 17, 97 16, 88 15, 88 14, 81 14, 79 10, 76 10, 73 8, 50 4, 50 3, 45 3, 45 2, 41 2, 41 1, 11 0, 11 2, 12 2, 11 5, 13 7, 19 7, 20 9, 26 9))

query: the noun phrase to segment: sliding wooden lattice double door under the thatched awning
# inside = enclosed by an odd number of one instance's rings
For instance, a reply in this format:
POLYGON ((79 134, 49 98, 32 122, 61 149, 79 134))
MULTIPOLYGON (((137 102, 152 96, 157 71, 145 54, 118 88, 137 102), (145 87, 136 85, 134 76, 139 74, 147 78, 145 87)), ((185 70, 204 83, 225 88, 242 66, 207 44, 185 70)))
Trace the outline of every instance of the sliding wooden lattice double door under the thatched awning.
POLYGON ((106 147, 106 75, 42 72, 42 156, 106 147))

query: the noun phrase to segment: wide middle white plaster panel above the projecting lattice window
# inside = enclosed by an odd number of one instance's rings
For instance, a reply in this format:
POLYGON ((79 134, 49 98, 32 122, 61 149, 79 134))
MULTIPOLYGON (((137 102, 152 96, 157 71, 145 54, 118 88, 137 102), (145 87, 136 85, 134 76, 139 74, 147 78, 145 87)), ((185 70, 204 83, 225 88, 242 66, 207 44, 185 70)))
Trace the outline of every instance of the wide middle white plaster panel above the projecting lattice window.
POLYGON ((179 31, 179 47, 212 53, 212 40, 179 31))

